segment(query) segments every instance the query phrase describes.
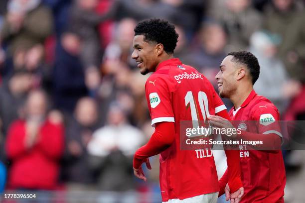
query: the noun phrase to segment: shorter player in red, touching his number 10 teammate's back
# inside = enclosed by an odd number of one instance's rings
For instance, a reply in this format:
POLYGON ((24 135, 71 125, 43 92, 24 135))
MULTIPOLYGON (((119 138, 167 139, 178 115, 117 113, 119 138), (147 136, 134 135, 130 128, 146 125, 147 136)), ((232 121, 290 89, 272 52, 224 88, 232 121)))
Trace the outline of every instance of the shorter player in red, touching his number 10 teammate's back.
MULTIPOLYGON (((240 51, 228 54, 215 77, 219 95, 222 98, 229 98, 234 104, 229 115, 232 120, 240 122, 239 126, 244 129, 240 138, 263 141, 265 143, 263 146, 271 145, 267 148, 273 146, 277 149, 249 150, 246 145, 240 145, 244 196, 240 200, 231 195, 231 202, 233 200, 234 203, 284 203, 286 174, 280 150, 283 136, 277 122, 280 115, 272 102, 257 95, 253 90, 259 73, 260 66, 257 58, 250 52, 240 51), (257 122, 255 124, 248 122, 247 126, 246 123, 250 120, 257 122)), ((226 119, 219 116, 210 116, 210 123, 216 127, 228 127, 230 124, 225 121, 226 119)), ((219 181, 219 195, 225 192, 228 200, 230 187, 227 185, 227 178, 227 172, 225 172, 219 181)))

